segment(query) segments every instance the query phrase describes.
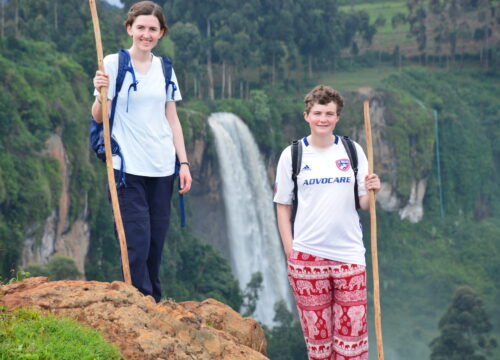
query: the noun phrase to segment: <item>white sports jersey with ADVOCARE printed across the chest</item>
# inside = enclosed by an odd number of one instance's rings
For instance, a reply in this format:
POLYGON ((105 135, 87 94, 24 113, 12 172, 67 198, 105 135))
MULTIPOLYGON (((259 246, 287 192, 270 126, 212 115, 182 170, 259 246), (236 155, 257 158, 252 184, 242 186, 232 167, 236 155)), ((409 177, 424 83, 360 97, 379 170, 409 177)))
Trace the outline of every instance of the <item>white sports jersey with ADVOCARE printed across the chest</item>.
MULTIPOLYGON (((361 146, 358 155, 358 193, 366 194, 368 161, 361 146)), ((326 259, 365 265, 365 247, 354 202, 354 171, 341 139, 328 149, 316 149, 302 140, 302 164, 297 177, 298 208, 293 249, 326 259)), ((274 202, 292 205, 292 153, 281 153, 274 202)))

